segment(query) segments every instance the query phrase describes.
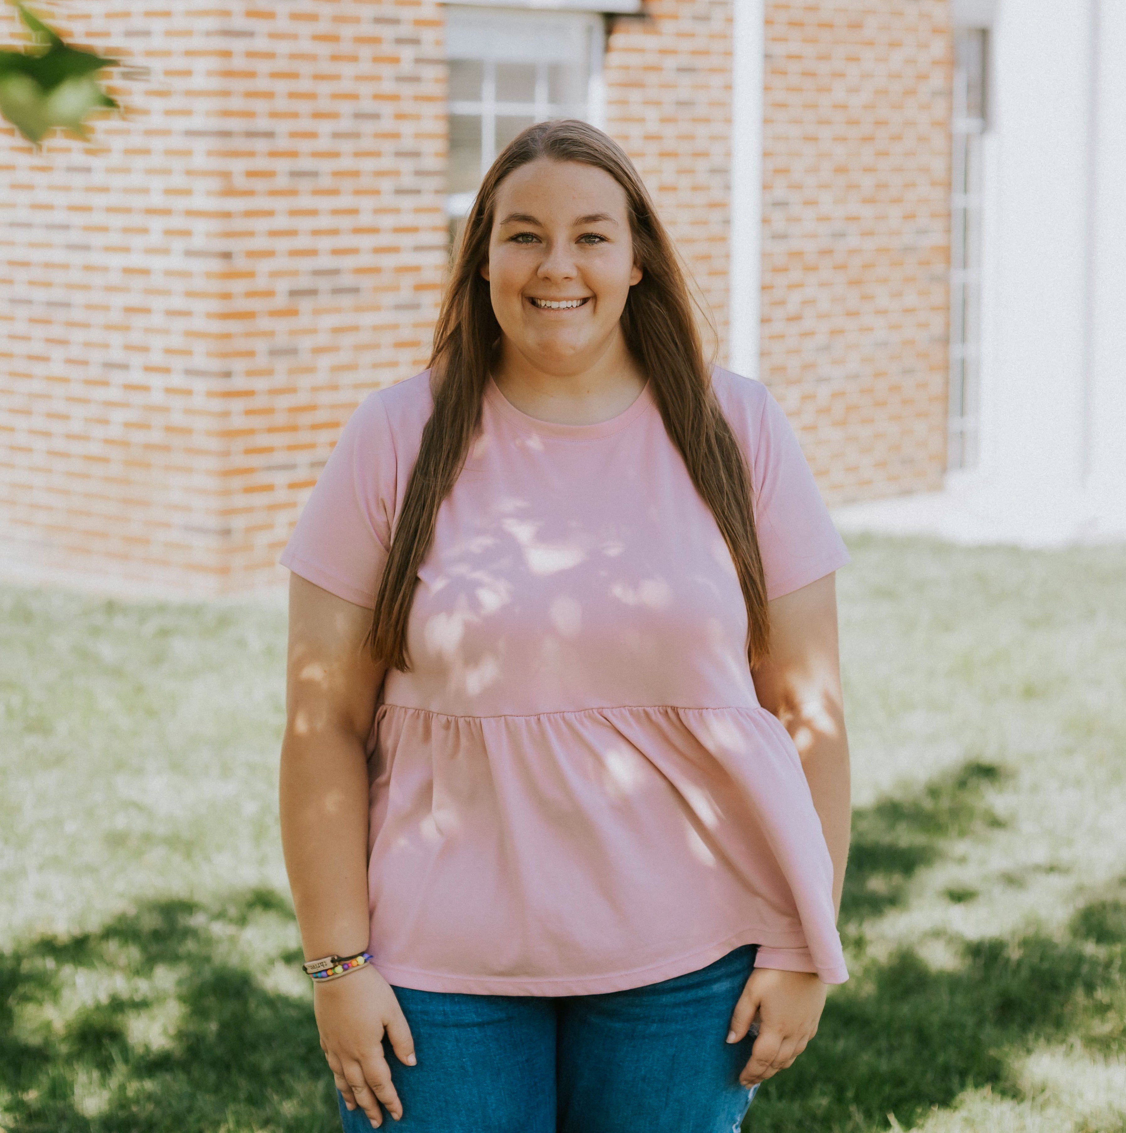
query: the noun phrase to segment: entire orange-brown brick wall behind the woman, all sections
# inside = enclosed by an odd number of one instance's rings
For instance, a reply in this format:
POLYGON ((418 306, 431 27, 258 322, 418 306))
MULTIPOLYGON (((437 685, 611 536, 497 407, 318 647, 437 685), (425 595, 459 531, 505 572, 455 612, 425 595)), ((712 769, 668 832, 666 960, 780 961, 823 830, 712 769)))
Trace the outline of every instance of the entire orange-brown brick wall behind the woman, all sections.
MULTIPOLYGON (((445 266, 436 0, 54 0, 127 108, 0 130, 0 554, 185 593, 276 581, 343 421, 424 364, 445 266)), ((0 33, 18 34, 0 7, 0 33)), ((649 0, 607 127, 727 313, 731 0, 649 0)), ((764 372, 834 501, 939 483, 946 0, 775 2, 764 372)))

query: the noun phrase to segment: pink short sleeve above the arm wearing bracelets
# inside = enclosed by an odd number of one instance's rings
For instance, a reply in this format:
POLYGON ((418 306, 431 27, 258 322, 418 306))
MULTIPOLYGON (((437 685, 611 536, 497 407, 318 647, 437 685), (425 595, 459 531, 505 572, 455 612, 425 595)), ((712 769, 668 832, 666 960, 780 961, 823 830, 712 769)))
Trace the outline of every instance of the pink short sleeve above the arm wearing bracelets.
POLYGON ((391 546, 396 465, 386 408, 378 392, 368 394, 322 469, 281 564, 374 610, 391 546))

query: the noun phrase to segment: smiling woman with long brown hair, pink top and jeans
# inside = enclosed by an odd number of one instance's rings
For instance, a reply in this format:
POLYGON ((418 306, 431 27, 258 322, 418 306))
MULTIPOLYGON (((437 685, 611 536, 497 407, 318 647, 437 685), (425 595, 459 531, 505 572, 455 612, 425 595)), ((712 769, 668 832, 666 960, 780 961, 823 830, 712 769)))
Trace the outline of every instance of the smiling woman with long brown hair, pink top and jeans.
POLYGON ((344 1127, 732 1130, 847 978, 847 554, 594 127, 497 159, 435 343, 282 556, 282 834, 344 1127))

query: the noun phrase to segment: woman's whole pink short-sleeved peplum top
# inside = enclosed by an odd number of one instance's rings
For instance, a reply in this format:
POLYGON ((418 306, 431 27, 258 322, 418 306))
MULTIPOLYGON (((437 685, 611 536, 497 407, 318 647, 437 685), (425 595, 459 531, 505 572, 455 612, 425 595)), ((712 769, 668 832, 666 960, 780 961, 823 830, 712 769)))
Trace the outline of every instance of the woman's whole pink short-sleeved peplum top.
MULTIPOLYGON (((714 372, 747 454, 767 596, 848 562, 788 423, 714 372)), ((281 562, 368 608, 429 374, 344 427, 281 562)), ((847 979, 797 749, 754 693, 747 611, 651 389, 557 425, 489 381, 368 740, 375 966, 432 991, 587 995, 703 968, 847 979)))

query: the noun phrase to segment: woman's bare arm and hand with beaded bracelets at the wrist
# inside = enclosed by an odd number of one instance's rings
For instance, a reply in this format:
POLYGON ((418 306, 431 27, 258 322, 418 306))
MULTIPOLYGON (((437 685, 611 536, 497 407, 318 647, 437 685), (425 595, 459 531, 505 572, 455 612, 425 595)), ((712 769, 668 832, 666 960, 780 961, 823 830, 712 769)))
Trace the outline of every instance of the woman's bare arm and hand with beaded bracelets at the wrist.
MULTIPOLYGON (((306 960, 352 955, 368 944, 365 743, 383 680, 364 645, 370 620, 369 610, 290 577, 281 830, 306 960)), ((409 1065, 413 1047, 383 978, 365 965, 318 981, 314 1010, 348 1107, 360 1106, 378 1125, 378 1098, 400 1117, 383 1034, 409 1065)))

